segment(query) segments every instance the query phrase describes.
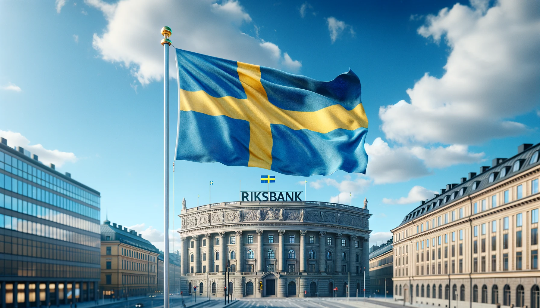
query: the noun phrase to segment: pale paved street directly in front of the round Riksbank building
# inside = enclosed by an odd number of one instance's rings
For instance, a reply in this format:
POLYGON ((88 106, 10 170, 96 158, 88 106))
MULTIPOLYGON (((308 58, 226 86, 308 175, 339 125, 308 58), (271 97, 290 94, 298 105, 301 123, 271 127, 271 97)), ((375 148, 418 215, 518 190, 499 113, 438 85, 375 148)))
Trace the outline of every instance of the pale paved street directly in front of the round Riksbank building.
POLYGON ((231 308, 377 308, 403 307, 399 303, 384 303, 359 298, 249 298, 239 299, 231 308))

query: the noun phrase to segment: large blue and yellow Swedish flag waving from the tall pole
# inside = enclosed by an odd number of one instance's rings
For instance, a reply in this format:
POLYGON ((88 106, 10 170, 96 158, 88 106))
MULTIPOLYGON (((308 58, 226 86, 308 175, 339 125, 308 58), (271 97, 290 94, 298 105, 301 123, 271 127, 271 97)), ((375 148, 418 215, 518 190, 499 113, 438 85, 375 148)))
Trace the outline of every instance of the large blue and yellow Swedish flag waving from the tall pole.
POLYGON ((318 81, 176 49, 176 159, 282 174, 365 173, 368 119, 353 71, 318 81))

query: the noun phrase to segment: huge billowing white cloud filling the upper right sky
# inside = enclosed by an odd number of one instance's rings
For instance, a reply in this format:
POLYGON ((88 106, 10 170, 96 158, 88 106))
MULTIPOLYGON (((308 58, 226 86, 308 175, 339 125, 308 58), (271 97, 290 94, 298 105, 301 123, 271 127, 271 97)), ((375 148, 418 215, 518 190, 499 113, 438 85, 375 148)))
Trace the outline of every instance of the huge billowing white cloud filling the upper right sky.
POLYGON ((424 74, 410 102, 381 107, 388 139, 470 145, 528 130, 512 121, 540 101, 540 2, 472 1, 428 16, 418 33, 450 48, 441 78, 424 74))

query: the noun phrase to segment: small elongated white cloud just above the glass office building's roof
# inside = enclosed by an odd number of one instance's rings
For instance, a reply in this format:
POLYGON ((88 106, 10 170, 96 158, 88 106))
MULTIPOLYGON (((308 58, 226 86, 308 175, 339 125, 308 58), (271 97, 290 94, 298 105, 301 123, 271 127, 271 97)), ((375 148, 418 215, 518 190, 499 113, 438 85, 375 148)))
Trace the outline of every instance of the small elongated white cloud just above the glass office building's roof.
POLYGON ((30 145, 30 140, 26 139, 21 133, 0 130, 0 136, 8 140, 10 147, 23 147, 29 150, 32 154, 38 155, 39 161, 45 165, 49 163, 55 164, 56 167, 62 167, 66 162, 76 162, 77 156, 70 152, 61 152, 59 150, 49 150, 44 148, 40 143, 30 145))

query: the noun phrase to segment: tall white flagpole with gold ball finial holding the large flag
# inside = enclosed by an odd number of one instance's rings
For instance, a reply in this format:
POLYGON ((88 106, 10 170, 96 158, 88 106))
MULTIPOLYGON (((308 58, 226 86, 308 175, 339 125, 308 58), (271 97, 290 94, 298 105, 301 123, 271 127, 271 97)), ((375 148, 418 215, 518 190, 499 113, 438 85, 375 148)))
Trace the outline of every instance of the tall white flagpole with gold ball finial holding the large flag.
POLYGON ((163 308, 169 308, 169 242, 168 242, 168 47, 171 45, 171 40, 168 39, 171 36, 171 28, 167 26, 161 29, 161 35, 165 38, 161 40, 163 45, 163 57, 164 57, 164 76, 163 76, 163 143, 164 143, 164 157, 163 157, 163 170, 164 170, 164 240, 165 251, 163 256, 163 308))

